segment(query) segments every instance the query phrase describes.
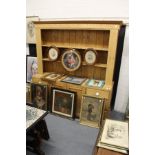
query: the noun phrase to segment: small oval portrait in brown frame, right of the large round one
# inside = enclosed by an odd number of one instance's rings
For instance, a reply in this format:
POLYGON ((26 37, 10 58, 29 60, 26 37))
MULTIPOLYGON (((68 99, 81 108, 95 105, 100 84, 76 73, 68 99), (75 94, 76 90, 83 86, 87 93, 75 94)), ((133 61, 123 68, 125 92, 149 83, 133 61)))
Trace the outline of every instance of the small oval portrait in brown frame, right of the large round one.
POLYGON ((88 48, 85 50, 85 62, 87 65, 94 65, 96 62, 97 52, 92 49, 88 48))

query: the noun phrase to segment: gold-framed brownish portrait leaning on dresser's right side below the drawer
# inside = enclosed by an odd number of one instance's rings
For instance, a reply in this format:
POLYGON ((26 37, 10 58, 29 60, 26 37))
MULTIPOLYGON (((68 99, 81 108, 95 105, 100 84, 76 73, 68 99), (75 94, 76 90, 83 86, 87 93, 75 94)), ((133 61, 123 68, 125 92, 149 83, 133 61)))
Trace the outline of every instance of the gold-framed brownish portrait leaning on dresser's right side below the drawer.
POLYGON ((103 104, 102 98, 83 95, 80 112, 80 124, 99 128, 103 104))

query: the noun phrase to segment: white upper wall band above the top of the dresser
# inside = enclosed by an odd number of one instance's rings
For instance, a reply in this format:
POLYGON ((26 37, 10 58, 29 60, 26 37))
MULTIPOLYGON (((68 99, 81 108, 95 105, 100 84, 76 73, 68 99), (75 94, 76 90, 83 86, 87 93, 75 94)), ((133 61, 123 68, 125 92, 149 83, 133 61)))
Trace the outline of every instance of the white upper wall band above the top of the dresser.
POLYGON ((128 19, 128 0, 27 0, 26 15, 49 18, 128 19))

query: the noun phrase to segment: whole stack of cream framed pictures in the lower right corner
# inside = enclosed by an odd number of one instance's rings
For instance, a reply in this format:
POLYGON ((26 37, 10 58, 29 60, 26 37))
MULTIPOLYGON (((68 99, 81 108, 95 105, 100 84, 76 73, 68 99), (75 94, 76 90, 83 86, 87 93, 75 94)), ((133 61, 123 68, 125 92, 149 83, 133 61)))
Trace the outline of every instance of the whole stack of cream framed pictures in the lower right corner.
POLYGON ((106 119, 97 146, 127 154, 128 122, 106 119))

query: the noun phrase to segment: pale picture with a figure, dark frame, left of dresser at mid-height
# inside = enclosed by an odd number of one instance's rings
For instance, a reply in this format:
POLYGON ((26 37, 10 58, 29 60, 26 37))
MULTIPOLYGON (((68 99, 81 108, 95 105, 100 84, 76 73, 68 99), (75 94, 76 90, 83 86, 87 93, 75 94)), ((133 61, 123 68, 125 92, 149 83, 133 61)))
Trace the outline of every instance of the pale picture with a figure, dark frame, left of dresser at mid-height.
POLYGON ((32 82, 32 76, 38 73, 37 57, 26 56, 26 82, 32 82))

